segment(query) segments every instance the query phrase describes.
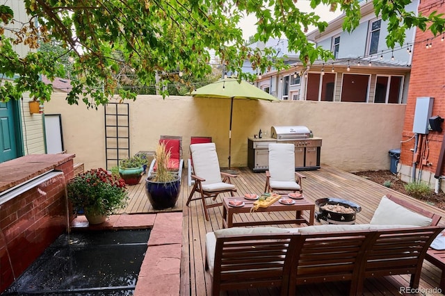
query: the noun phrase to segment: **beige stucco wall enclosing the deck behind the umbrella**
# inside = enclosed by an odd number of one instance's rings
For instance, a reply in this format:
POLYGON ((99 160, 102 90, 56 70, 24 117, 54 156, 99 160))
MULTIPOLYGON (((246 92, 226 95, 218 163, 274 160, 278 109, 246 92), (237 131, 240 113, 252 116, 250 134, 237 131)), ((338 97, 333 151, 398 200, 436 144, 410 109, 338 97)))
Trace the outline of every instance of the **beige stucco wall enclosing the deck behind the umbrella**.
MULTIPOLYGON (((140 95, 127 101, 131 154, 154 150, 160 135, 182 135, 184 158, 191 136, 211 136, 220 165, 227 167, 229 99, 140 95)), ((88 170, 105 166, 104 108, 69 106, 65 94, 45 103, 47 114, 61 114, 63 142, 75 162, 88 170)), ((261 128, 304 125, 323 138, 321 164, 347 171, 389 170, 389 149, 400 147, 405 105, 323 101, 235 100, 232 122, 232 167, 247 166, 247 138, 261 128)))

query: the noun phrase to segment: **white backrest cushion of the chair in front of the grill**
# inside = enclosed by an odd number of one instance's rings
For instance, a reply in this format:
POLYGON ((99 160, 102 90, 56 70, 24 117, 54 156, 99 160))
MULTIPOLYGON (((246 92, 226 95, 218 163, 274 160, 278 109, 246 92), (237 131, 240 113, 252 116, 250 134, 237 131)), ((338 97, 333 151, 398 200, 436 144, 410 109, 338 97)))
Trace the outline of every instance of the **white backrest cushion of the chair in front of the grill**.
POLYGON ((270 181, 295 182, 295 145, 269 144, 270 181))

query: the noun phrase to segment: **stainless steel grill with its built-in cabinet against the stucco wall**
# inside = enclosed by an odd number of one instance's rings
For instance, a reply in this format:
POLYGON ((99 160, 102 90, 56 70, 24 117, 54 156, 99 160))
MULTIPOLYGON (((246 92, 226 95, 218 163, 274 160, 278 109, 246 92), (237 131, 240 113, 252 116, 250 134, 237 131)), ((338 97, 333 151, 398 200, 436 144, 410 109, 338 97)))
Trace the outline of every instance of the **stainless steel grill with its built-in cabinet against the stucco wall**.
POLYGON ((248 138, 248 167, 254 172, 264 172, 269 167, 269 144, 295 145, 295 170, 320 168, 321 138, 310 138, 306 126, 272 126, 271 138, 248 138))

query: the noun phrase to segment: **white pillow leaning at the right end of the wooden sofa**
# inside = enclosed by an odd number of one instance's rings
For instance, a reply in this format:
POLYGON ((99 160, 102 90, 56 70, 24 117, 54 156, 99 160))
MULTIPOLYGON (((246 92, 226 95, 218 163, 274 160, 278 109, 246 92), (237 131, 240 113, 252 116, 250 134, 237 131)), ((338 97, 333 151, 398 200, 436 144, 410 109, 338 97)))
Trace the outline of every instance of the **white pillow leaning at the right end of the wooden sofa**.
POLYGON ((400 224, 426 227, 430 226, 431 222, 432 219, 414 213, 384 196, 382 200, 380 200, 380 204, 375 210, 370 223, 378 225, 400 224))

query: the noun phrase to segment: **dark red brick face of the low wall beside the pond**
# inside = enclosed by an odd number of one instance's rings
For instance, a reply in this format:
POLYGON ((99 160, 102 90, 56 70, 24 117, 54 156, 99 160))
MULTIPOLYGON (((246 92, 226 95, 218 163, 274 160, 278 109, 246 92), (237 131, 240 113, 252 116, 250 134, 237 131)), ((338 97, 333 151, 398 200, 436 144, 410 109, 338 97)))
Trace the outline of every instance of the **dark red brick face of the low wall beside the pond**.
POLYGON ((74 176, 73 161, 56 170, 64 174, 0 205, 0 293, 67 228, 65 180, 74 176))

